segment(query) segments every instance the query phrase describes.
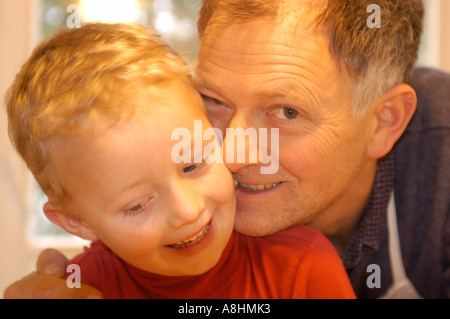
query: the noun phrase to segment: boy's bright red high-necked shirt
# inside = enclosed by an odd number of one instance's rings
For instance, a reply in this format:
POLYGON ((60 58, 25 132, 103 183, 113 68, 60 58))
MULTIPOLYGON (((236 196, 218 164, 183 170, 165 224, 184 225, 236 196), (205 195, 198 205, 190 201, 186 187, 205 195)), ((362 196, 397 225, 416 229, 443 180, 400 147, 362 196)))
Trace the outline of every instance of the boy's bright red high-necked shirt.
POLYGON ((233 233, 219 263, 199 276, 145 272, 98 241, 69 264, 105 298, 355 298, 333 245, 306 226, 260 238, 233 233))

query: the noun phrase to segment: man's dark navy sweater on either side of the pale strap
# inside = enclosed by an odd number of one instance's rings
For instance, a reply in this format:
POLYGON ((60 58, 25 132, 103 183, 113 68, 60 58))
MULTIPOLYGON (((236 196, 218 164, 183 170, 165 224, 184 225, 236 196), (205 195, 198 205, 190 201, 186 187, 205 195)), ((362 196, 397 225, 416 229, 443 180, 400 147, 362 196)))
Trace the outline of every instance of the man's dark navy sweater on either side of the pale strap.
MULTIPOLYGON (((450 298, 450 74, 418 68, 409 84, 417 110, 393 149, 403 263, 421 296, 450 298)), ((359 264, 347 269, 359 298, 380 297, 392 283, 383 223, 379 248, 362 250, 359 264), (381 268, 381 288, 367 287, 370 264, 381 268)))

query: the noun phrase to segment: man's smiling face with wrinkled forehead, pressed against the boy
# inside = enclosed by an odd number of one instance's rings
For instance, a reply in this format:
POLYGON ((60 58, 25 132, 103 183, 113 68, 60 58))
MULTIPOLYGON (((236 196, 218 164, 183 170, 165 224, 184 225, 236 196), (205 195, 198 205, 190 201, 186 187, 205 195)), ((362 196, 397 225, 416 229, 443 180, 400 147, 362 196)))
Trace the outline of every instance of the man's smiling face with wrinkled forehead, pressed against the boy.
MULTIPOLYGON (((367 172, 373 122, 351 115, 351 91, 312 29, 250 22, 206 33, 196 83, 214 127, 279 128, 279 169, 227 163, 236 187, 235 229, 267 235, 317 226, 351 205, 367 172)), ((226 136, 225 136, 226 140, 226 136)), ((226 141, 224 141, 224 145, 226 141)), ((320 227, 319 227, 320 228, 320 227)))

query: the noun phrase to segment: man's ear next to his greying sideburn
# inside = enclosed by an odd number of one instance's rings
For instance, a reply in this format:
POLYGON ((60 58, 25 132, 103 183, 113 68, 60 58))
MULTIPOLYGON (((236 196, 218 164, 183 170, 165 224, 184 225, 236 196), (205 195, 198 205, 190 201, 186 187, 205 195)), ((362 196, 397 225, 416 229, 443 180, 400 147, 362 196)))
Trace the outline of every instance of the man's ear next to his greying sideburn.
POLYGON ((368 156, 381 158, 389 153, 402 136, 417 106, 414 89, 399 84, 390 89, 375 109, 376 129, 368 147, 368 156))

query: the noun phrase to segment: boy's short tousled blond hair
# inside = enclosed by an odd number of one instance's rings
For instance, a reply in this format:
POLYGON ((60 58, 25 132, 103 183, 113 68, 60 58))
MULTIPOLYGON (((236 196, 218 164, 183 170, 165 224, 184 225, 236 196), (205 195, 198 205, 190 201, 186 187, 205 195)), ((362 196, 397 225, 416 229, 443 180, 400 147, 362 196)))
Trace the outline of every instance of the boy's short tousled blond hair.
POLYGON ((49 200, 63 205, 70 194, 52 174, 51 139, 85 136, 98 119, 126 120, 142 92, 175 78, 192 86, 184 61, 144 26, 62 29, 35 48, 6 94, 10 139, 49 200))

